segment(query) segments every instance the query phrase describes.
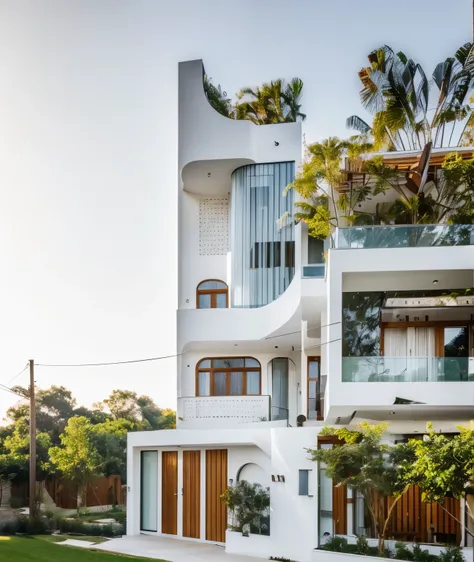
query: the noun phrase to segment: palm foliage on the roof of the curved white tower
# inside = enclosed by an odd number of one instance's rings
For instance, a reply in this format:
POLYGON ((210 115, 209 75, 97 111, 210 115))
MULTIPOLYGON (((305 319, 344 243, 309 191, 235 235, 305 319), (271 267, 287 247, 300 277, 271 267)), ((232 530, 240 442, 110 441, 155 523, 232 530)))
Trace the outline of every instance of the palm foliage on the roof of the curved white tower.
POLYGON ((266 82, 256 89, 242 88, 237 94, 236 119, 248 119, 257 125, 292 123, 306 118, 301 112, 303 81, 293 78, 266 82))

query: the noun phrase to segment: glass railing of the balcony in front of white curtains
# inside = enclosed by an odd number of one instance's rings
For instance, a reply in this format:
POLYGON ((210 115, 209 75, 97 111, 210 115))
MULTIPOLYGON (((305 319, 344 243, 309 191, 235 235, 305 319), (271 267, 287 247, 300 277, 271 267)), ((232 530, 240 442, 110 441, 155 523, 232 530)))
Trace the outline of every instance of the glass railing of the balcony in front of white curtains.
POLYGON ((343 357, 342 382, 474 381, 474 357, 343 357))

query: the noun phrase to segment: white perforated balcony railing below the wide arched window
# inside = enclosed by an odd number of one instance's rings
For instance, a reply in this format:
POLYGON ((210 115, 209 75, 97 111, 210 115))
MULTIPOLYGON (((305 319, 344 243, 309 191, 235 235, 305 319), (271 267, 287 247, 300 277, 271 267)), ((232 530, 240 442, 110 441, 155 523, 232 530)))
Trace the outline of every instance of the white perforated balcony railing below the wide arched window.
POLYGON ((190 396, 178 398, 178 411, 184 421, 270 420, 270 396, 190 396))

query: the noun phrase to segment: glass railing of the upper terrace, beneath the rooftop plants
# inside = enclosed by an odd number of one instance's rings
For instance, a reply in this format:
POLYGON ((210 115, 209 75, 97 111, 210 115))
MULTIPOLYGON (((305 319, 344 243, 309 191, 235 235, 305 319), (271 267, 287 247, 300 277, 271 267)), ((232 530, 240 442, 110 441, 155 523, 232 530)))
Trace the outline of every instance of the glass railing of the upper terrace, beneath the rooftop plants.
POLYGON ((337 249, 428 248, 474 245, 474 225, 354 226, 338 228, 337 249))

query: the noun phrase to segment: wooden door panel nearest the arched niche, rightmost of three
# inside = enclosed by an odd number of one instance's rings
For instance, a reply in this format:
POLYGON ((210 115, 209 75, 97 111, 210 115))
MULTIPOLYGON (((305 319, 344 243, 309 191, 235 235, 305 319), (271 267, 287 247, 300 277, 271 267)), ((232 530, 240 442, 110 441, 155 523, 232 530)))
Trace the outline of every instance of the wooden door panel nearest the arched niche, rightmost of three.
POLYGON ((206 451, 206 540, 225 542, 227 509, 221 495, 227 488, 227 450, 206 451))

